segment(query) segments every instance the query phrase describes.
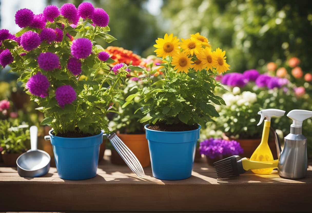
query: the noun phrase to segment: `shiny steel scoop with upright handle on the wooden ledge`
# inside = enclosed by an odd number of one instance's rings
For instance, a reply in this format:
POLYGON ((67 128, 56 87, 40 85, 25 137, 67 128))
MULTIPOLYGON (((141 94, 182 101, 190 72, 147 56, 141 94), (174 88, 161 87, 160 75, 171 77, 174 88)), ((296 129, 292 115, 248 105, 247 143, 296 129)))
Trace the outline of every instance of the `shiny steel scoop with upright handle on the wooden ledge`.
POLYGON ((39 177, 48 173, 51 157, 45 151, 37 149, 37 126, 30 127, 31 150, 21 154, 17 160, 17 172, 21 177, 39 177))

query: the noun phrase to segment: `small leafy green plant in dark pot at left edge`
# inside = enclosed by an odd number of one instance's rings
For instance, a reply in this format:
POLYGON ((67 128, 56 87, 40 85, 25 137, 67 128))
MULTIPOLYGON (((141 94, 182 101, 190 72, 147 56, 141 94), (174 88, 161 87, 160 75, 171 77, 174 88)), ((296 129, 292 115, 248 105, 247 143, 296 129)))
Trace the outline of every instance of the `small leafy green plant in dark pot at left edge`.
POLYGON ((16 166, 16 160, 26 151, 25 142, 30 140, 28 125, 18 119, 0 120, 0 151, 6 166, 16 166))

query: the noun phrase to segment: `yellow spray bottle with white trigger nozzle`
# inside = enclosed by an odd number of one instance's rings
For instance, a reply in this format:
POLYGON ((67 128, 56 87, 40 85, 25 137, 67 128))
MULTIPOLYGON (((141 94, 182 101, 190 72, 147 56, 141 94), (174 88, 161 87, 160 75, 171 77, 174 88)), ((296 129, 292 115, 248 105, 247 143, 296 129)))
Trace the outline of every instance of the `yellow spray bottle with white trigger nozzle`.
MULTIPOLYGON (((264 121, 261 143, 259 144, 257 149, 254 151, 254 153, 251 155, 250 160, 252 161, 272 161, 273 160, 273 155, 268 144, 269 132, 270 132, 270 126, 271 126, 271 117, 283 116, 284 114, 285 114, 285 111, 279 110, 279 109, 265 109, 265 110, 261 110, 258 112, 258 115, 261 115, 261 119, 260 119, 260 122, 257 124, 257 126, 259 126, 262 123, 264 118, 266 118, 266 121, 264 121)), ((270 174, 273 171, 273 168, 252 169, 251 171, 256 174, 270 174)))

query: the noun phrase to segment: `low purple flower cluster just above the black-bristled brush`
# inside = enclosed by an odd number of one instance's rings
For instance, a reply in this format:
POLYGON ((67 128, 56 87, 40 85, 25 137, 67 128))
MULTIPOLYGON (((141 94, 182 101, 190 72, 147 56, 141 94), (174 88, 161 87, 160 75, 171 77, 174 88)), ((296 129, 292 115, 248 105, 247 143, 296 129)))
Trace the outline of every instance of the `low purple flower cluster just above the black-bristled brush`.
POLYGON ((200 143, 200 154, 207 155, 214 159, 220 155, 238 155, 243 153, 243 149, 236 140, 222 140, 209 138, 200 143))

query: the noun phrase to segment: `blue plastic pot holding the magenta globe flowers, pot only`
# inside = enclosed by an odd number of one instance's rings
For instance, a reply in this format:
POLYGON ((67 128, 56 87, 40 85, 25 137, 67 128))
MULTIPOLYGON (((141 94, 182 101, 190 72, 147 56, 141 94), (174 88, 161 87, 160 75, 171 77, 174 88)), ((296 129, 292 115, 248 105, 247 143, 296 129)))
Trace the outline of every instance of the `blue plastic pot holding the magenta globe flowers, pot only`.
POLYGON ((85 180, 96 175, 103 133, 84 138, 65 138, 49 131, 57 173, 66 180, 85 180))

